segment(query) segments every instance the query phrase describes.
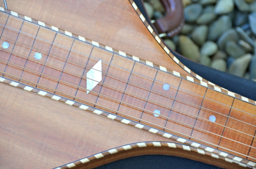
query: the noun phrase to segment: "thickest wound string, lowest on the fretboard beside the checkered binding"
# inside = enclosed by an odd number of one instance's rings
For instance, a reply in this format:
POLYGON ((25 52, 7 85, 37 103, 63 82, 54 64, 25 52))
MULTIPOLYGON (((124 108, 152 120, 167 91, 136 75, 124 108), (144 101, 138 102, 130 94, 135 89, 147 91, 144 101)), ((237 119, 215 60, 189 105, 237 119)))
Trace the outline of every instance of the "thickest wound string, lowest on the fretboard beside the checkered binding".
MULTIPOLYGON (((253 157, 251 157, 251 156, 248 156, 248 155, 245 155, 245 154, 242 154, 242 153, 239 153, 239 152, 236 152, 236 151, 233 151, 233 150, 227 149, 227 148, 225 148, 225 147, 222 147, 222 146, 219 146, 219 145, 217 145, 217 144, 213 144, 213 143, 210 143, 210 142, 207 142, 207 141, 201 140, 201 139, 196 138, 196 137, 193 137, 193 136, 189 136, 189 135, 186 135, 186 134, 180 133, 180 132, 178 132, 178 131, 175 131, 175 130, 172 130, 172 129, 169 129, 169 128, 166 128, 166 127, 160 126, 160 125, 158 125, 158 124, 155 124, 155 123, 152 123, 152 122, 149 122, 149 121, 143 120, 143 119, 141 119, 141 118, 134 117, 134 116, 129 115, 129 114, 125 114, 125 113, 120 112, 120 111, 116 111, 116 110, 114 110, 114 109, 112 109, 112 108, 108 108, 108 107, 105 107, 105 106, 99 105, 99 104, 97 104, 97 103, 93 103, 93 102, 91 102, 91 101, 88 101, 88 100, 85 100, 85 99, 82 99, 82 98, 76 97, 76 96, 74 96, 74 95, 71 95, 71 94, 68 94, 68 93, 65 93, 65 92, 61 92, 61 91, 59 91, 59 90, 56 90, 56 89, 53 89, 53 88, 50 88, 50 87, 47 87, 47 86, 44 86, 44 85, 41 85, 41 84, 38 84, 38 83, 32 82, 32 81, 29 81, 29 80, 27 80, 27 79, 20 78, 20 77, 14 76, 14 75, 12 75, 12 74, 5 73, 5 72, 3 72, 3 71, 0 71, 0 73, 4 73, 4 74, 6 74, 6 75, 9 75, 9 76, 12 76, 12 77, 18 78, 18 79, 20 79, 20 80, 24 80, 24 81, 26 81, 26 82, 28 82, 28 83, 32 83, 32 84, 34 84, 34 85, 38 85, 38 86, 44 87, 44 88, 49 89, 49 90, 52 90, 52 91, 55 91, 55 92, 59 92, 59 93, 61 93, 61 94, 64 94, 64 95, 67 95, 67 96, 70 96, 70 97, 73 97, 73 98, 76 98, 76 99, 82 100, 82 101, 87 102, 87 103, 90 103, 90 104, 92 104, 92 105, 99 106, 99 107, 102 107, 102 108, 108 109, 108 110, 113 111, 113 112, 117 112, 117 113, 122 114, 122 115, 125 115, 125 116, 127 116, 127 117, 131 117, 131 118, 133 118, 133 119, 136 119, 136 120, 143 121, 143 122, 145 122, 145 123, 151 124, 151 125, 153 125, 153 126, 157 126, 157 127, 159 127, 159 128, 163 128, 163 129, 166 129, 166 130, 169 130, 169 131, 175 132, 175 133, 177 133, 177 134, 180 134, 180 135, 183 135, 183 136, 186 136, 186 137, 189 137, 189 138, 193 138, 193 139, 195 139, 195 140, 198 140, 198 141, 201 141, 201 142, 204 142, 204 143, 207 143, 207 144, 210 144, 210 145, 213 145, 213 146, 216 146, 216 147, 222 148, 222 149, 224 149, 224 150, 234 152, 234 153, 239 154, 239 155, 242 155, 242 156, 244 156, 244 157, 248 157, 248 158, 252 158, 252 159, 255 159, 255 160, 256 160, 256 158, 253 158, 253 157)), ((243 144, 243 143, 240 143, 240 144, 243 144)), ((246 145, 246 144, 245 144, 245 145, 246 145)), ((248 145, 247 145, 247 146, 248 146, 248 145)), ((254 148, 254 147, 252 147, 252 148, 254 148)), ((254 149, 256 149, 256 148, 254 148, 254 149)))

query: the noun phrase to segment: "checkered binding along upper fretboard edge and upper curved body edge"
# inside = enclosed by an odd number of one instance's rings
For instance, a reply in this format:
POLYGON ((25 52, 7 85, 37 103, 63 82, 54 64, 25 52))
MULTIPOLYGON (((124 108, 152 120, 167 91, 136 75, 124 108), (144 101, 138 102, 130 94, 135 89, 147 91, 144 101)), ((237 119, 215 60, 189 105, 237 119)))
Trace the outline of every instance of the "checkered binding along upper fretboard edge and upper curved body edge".
POLYGON ((73 34, 71 32, 68 32, 68 31, 65 31, 65 30, 62 30, 60 28, 57 28, 55 26, 51 26, 51 25, 48 25, 44 22, 41 22, 41 21, 38 21, 38 20, 35 20, 35 19, 32 19, 30 17, 27 17, 27 16, 24 16, 24 15, 20 15, 18 14, 17 12, 14 12, 14 11, 10 11, 10 10, 7 10, 7 9, 4 9, 3 7, 0 7, 0 11, 3 11, 3 12, 6 12, 8 14, 11 14, 13 16, 16 16, 18 18, 21 18, 21 19, 24 19, 26 21, 29 21, 29 22, 32 22, 32 23, 35 23, 39 26, 43 26, 45 28, 48 28, 48 29, 51 29, 53 31, 56 31, 56 32, 59 32, 59 33, 62 33, 62 34, 65 34, 67 36, 70 36, 72 38, 75 38, 77 40, 81 40, 83 42, 86 42, 86 43, 89 43, 93 46, 96 46, 96 47, 99 47, 99 48, 102 48, 102 49, 105 49, 105 50, 108 50, 110 52, 113 52, 115 54, 118 54, 118 55, 121 55, 121 56, 124 56, 124 57, 127 57, 129 59, 132 59, 132 60, 135 60, 137 62, 140 62, 140 63, 143 63, 143 64, 146 64, 148 66, 151 66, 151 67, 154 67, 154 68, 157 68, 157 69, 160 69, 162 71, 165 71, 165 72, 168 72, 168 73, 171 73, 175 76, 178 76, 178 77, 181 77, 181 78, 184 78, 184 79, 187 79, 189 81, 192 81, 194 83, 197 83, 199 85, 202 85, 202 86, 205 86, 205 87, 208 87, 212 90, 215 90, 215 91, 218 91, 218 92, 221 92, 221 93, 224 93, 224 94, 227 94, 229 96, 232 96, 236 99, 240 99, 240 100, 243 100, 245 102, 248 102, 248 103, 251 103, 253 105, 256 105, 256 101, 252 100, 252 99, 248 99, 244 96, 241 96, 239 94, 236 94, 234 92, 230 92, 228 91, 227 89, 224 89, 220 86, 217 86, 211 82, 209 82, 208 80, 205 80, 204 78, 200 77, 199 75, 197 75, 196 73, 194 73, 193 71, 191 71, 190 69, 188 69, 187 66, 185 66, 184 64, 182 64, 174 55, 172 55, 172 53, 170 52, 170 50, 164 45, 164 43, 160 40, 160 38, 157 36, 157 34, 153 31, 152 27, 148 24, 148 22, 146 21, 145 17, 141 14, 141 12, 139 11, 138 7, 136 6, 136 4, 130 0, 133 8, 135 9, 135 11, 138 13, 138 15, 140 16, 140 19, 143 21, 143 23, 145 24, 145 26, 148 28, 149 32, 155 37, 156 41, 161 45, 161 47, 164 49, 164 51, 178 64, 180 65, 180 67, 182 67, 184 70, 186 70, 189 74, 191 74, 193 77, 190 77, 190 76, 187 76, 187 75, 183 75, 179 72, 176 72, 176 71, 173 71, 173 70, 170 70, 170 69, 167 69, 163 66, 159 66, 159 65, 156 65, 152 62, 149 62, 149 61, 146 61, 146 60, 143 60, 143 59, 140 59, 136 56, 133 56, 133 55, 130 55, 130 54, 127 54, 127 53, 124 53, 120 50, 117 50, 117 49, 114 49, 114 48, 111 48, 111 47, 108 47, 106 45, 103 45, 103 44, 100 44, 98 42, 95 42, 93 40, 88 40, 84 37, 81 37, 79 35, 76 35, 76 34, 73 34))

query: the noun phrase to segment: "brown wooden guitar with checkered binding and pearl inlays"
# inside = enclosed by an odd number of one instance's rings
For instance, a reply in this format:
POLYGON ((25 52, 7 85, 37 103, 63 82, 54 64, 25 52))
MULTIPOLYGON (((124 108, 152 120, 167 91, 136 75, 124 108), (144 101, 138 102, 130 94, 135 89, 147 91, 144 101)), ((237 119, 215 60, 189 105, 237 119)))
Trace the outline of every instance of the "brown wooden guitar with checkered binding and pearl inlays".
POLYGON ((143 154, 256 165, 255 101, 184 66, 132 0, 0 6, 1 167, 143 154))

